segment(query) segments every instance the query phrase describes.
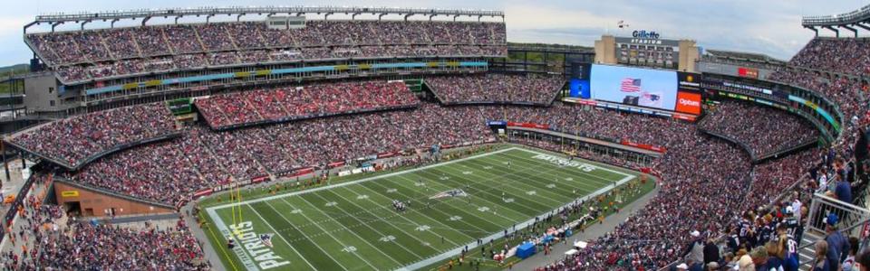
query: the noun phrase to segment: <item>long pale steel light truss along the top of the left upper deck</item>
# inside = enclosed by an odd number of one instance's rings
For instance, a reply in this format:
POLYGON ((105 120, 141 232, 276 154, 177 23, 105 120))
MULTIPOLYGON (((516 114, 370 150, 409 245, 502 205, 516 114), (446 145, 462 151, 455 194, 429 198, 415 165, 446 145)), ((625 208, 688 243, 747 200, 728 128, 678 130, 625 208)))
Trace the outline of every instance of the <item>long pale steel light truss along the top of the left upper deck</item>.
POLYGON ((115 22, 123 19, 141 19, 142 25, 153 17, 175 17, 178 19, 185 16, 206 16, 208 19, 215 15, 237 15, 240 20, 241 16, 246 14, 324 14, 327 18, 331 14, 350 14, 355 19, 359 14, 378 15, 380 19, 383 15, 399 14, 404 15, 404 19, 408 20, 413 15, 429 16, 430 20, 435 16, 452 16, 453 20, 461 16, 478 17, 478 21, 482 17, 501 17, 505 18, 505 13, 495 10, 466 10, 466 9, 433 9, 433 8, 400 8, 400 7, 363 7, 363 6, 231 6, 231 7, 195 7, 195 8, 169 8, 169 9, 143 9, 129 11, 106 11, 106 12, 82 12, 74 14, 40 14, 37 15, 34 22, 24 25, 24 33, 27 33, 27 28, 34 24, 50 23, 52 31, 54 27, 63 23, 80 23, 82 29, 84 24, 94 21, 111 22, 112 26, 115 22))

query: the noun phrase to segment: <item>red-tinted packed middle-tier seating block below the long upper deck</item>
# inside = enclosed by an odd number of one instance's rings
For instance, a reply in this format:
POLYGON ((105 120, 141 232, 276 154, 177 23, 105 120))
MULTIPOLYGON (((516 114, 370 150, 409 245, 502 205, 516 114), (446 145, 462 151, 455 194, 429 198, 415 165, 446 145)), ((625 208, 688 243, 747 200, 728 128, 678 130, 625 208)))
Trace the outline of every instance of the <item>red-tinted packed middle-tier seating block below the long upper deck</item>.
POLYGON ((260 89, 196 101, 199 112, 215 129, 413 107, 418 103, 401 81, 260 89))

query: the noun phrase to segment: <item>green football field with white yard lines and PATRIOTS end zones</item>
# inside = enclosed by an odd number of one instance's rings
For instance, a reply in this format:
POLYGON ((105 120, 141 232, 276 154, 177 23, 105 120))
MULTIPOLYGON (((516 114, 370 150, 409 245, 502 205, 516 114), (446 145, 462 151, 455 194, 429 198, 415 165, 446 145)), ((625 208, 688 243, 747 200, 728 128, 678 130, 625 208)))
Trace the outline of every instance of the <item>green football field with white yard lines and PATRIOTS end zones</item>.
POLYGON ((230 270, 430 269, 465 246, 478 250, 478 239, 501 238, 505 229, 523 229, 538 216, 638 174, 576 159, 560 165, 557 159, 562 157, 510 147, 214 205, 205 211, 214 229, 207 234, 230 270), (430 199, 450 190, 468 196, 430 199), (411 203, 397 211, 393 200, 411 203), (273 235, 272 248, 260 234, 273 235), (227 249, 229 238, 236 248, 227 249))

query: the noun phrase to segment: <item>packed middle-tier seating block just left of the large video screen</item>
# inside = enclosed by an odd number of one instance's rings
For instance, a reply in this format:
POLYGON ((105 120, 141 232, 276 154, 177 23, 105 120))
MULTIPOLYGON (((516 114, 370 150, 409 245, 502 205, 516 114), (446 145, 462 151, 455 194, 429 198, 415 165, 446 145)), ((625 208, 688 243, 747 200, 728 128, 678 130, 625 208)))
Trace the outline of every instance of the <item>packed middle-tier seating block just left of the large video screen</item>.
POLYGON ((561 76, 487 73, 431 77, 426 83, 445 104, 549 105, 565 85, 561 76))

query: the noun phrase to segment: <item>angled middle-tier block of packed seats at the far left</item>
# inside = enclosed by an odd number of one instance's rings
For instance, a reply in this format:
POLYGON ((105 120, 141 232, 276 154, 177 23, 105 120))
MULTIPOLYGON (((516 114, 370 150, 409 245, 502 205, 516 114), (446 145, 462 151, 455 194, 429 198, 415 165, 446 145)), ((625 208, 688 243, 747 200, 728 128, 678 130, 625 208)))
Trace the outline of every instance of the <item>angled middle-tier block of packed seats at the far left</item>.
POLYGON ((10 142, 73 168, 106 152, 177 133, 169 108, 154 103, 65 118, 27 130, 10 142))

